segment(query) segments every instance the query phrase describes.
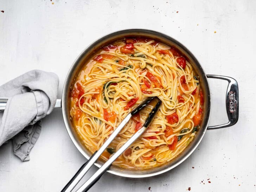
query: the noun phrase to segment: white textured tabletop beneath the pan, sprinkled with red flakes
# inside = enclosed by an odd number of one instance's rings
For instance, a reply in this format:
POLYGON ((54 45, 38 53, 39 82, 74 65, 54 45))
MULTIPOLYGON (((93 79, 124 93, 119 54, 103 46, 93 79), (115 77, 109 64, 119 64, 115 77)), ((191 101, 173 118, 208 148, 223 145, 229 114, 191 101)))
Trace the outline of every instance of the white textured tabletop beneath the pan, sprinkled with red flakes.
MULTIPOLYGON (((105 173, 91 191, 256 190, 255 1, 52 2, 0 1, 0 10, 5 11, 0 12, 0 84, 42 69, 58 74, 60 96, 78 54, 95 39, 124 28, 166 33, 186 45, 207 74, 231 76, 239 84, 238 123, 207 131, 180 166, 144 179, 105 173)), ((210 80, 210 85, 210 124, 226 122, 226 83, 210 80)), ((43 120, 30 161, 15 157, 11 143, 0 147, 0 191, 60 191, 84 161, 66 132, 61 110, 55 109, 43 120)), ((95 171, 92 167, 88 175, 95 171)))

